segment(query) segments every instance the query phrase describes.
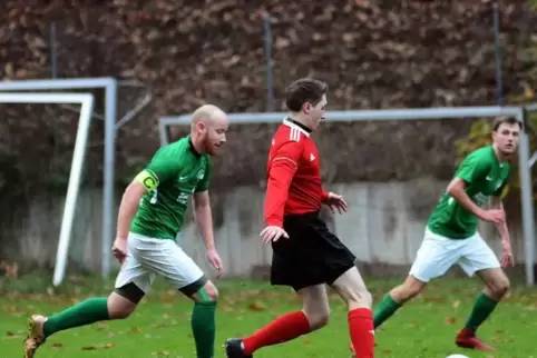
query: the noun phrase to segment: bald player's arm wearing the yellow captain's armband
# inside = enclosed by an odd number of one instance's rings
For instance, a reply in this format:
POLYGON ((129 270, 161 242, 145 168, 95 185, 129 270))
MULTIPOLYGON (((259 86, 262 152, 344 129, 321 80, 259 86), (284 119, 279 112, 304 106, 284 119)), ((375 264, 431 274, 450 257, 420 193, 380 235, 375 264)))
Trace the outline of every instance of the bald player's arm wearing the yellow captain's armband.
POLYGON ((143 170, 129 183, 121 198, 119 205, 119 213, 117 217, 116 240, 111 248, 114 256, 121 262, 127 255, 127 237, 130 230, 130 223, 138 211, 138 205, 141 197, 148 191, 157 187, 158 180, 147 170, 143 170))

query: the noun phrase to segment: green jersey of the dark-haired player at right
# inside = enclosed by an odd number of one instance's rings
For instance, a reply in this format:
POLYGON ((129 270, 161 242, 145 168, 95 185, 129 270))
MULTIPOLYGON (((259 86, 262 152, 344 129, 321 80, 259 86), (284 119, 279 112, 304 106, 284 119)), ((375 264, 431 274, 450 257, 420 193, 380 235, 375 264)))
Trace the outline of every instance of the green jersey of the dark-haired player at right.
MULTIPOLYGON (((492 146, 468 155, 455 173, 465 180, 466 193, 479 207, 490 196, 500 196, 509 179, 509 163, 499 162, 492 146)), ((429 218, 429 229, 449 239, 466 239, 477 231, 478 218, 445 192, 429 218)))

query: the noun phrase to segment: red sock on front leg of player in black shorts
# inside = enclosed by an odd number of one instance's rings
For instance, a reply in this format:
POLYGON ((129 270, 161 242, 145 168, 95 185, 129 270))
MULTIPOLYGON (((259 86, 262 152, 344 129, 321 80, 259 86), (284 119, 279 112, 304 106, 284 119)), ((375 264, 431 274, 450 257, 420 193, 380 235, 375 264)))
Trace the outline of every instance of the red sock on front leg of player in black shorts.
POLYGON ((374 357, 373 315, 368 308, 357 308, 348 314, 349 332, 357 358, 374 357))

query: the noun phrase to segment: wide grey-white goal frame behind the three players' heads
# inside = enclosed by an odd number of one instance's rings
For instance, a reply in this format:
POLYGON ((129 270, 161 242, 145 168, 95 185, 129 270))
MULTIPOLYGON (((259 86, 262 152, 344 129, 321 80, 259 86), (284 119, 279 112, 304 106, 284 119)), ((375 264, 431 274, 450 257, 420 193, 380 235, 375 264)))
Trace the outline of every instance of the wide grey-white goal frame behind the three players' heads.
MULTIPOLYGON (((158 122, 160 145, 169 142, 168 126, 187 126, 191 123, 192 115, 178 117, 162 117, 158 122)), ((260 112, 260 113, 228 113, 230 123, 233 125, 260 125, 276 123, 282 121, 285 112, 260 112)), ((385 110, 349 110, 349 111, 328 111, 326 121, 385 121, 385 120, 435 120, 461 118, 482 118, 497 116, 512 116, 520 120, 525 126, 520 133, 520 145, 518 149, 518 162, 520 170, 521 185, 521 208, 523 208, 523 233, 526 256, 526 284, 535 284, 535 222, 534 222, 534 195, 531 187, 530 150, 528 128, 526 122, 526 110, 523 107, 437 107, 418 109, 385 109, 385 110)))

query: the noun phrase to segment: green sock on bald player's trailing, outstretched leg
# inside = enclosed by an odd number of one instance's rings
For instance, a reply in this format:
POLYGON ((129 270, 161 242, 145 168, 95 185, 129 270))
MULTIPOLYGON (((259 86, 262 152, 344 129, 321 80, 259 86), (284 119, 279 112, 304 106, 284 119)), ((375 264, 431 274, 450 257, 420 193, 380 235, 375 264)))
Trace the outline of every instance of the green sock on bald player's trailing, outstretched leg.
POLYGON ((84 302, 50 316, 45 322, 43 332, 48 337, 57 331, 86 326, 99 320, 108 320, 107 298, 89 298, 84 302))

